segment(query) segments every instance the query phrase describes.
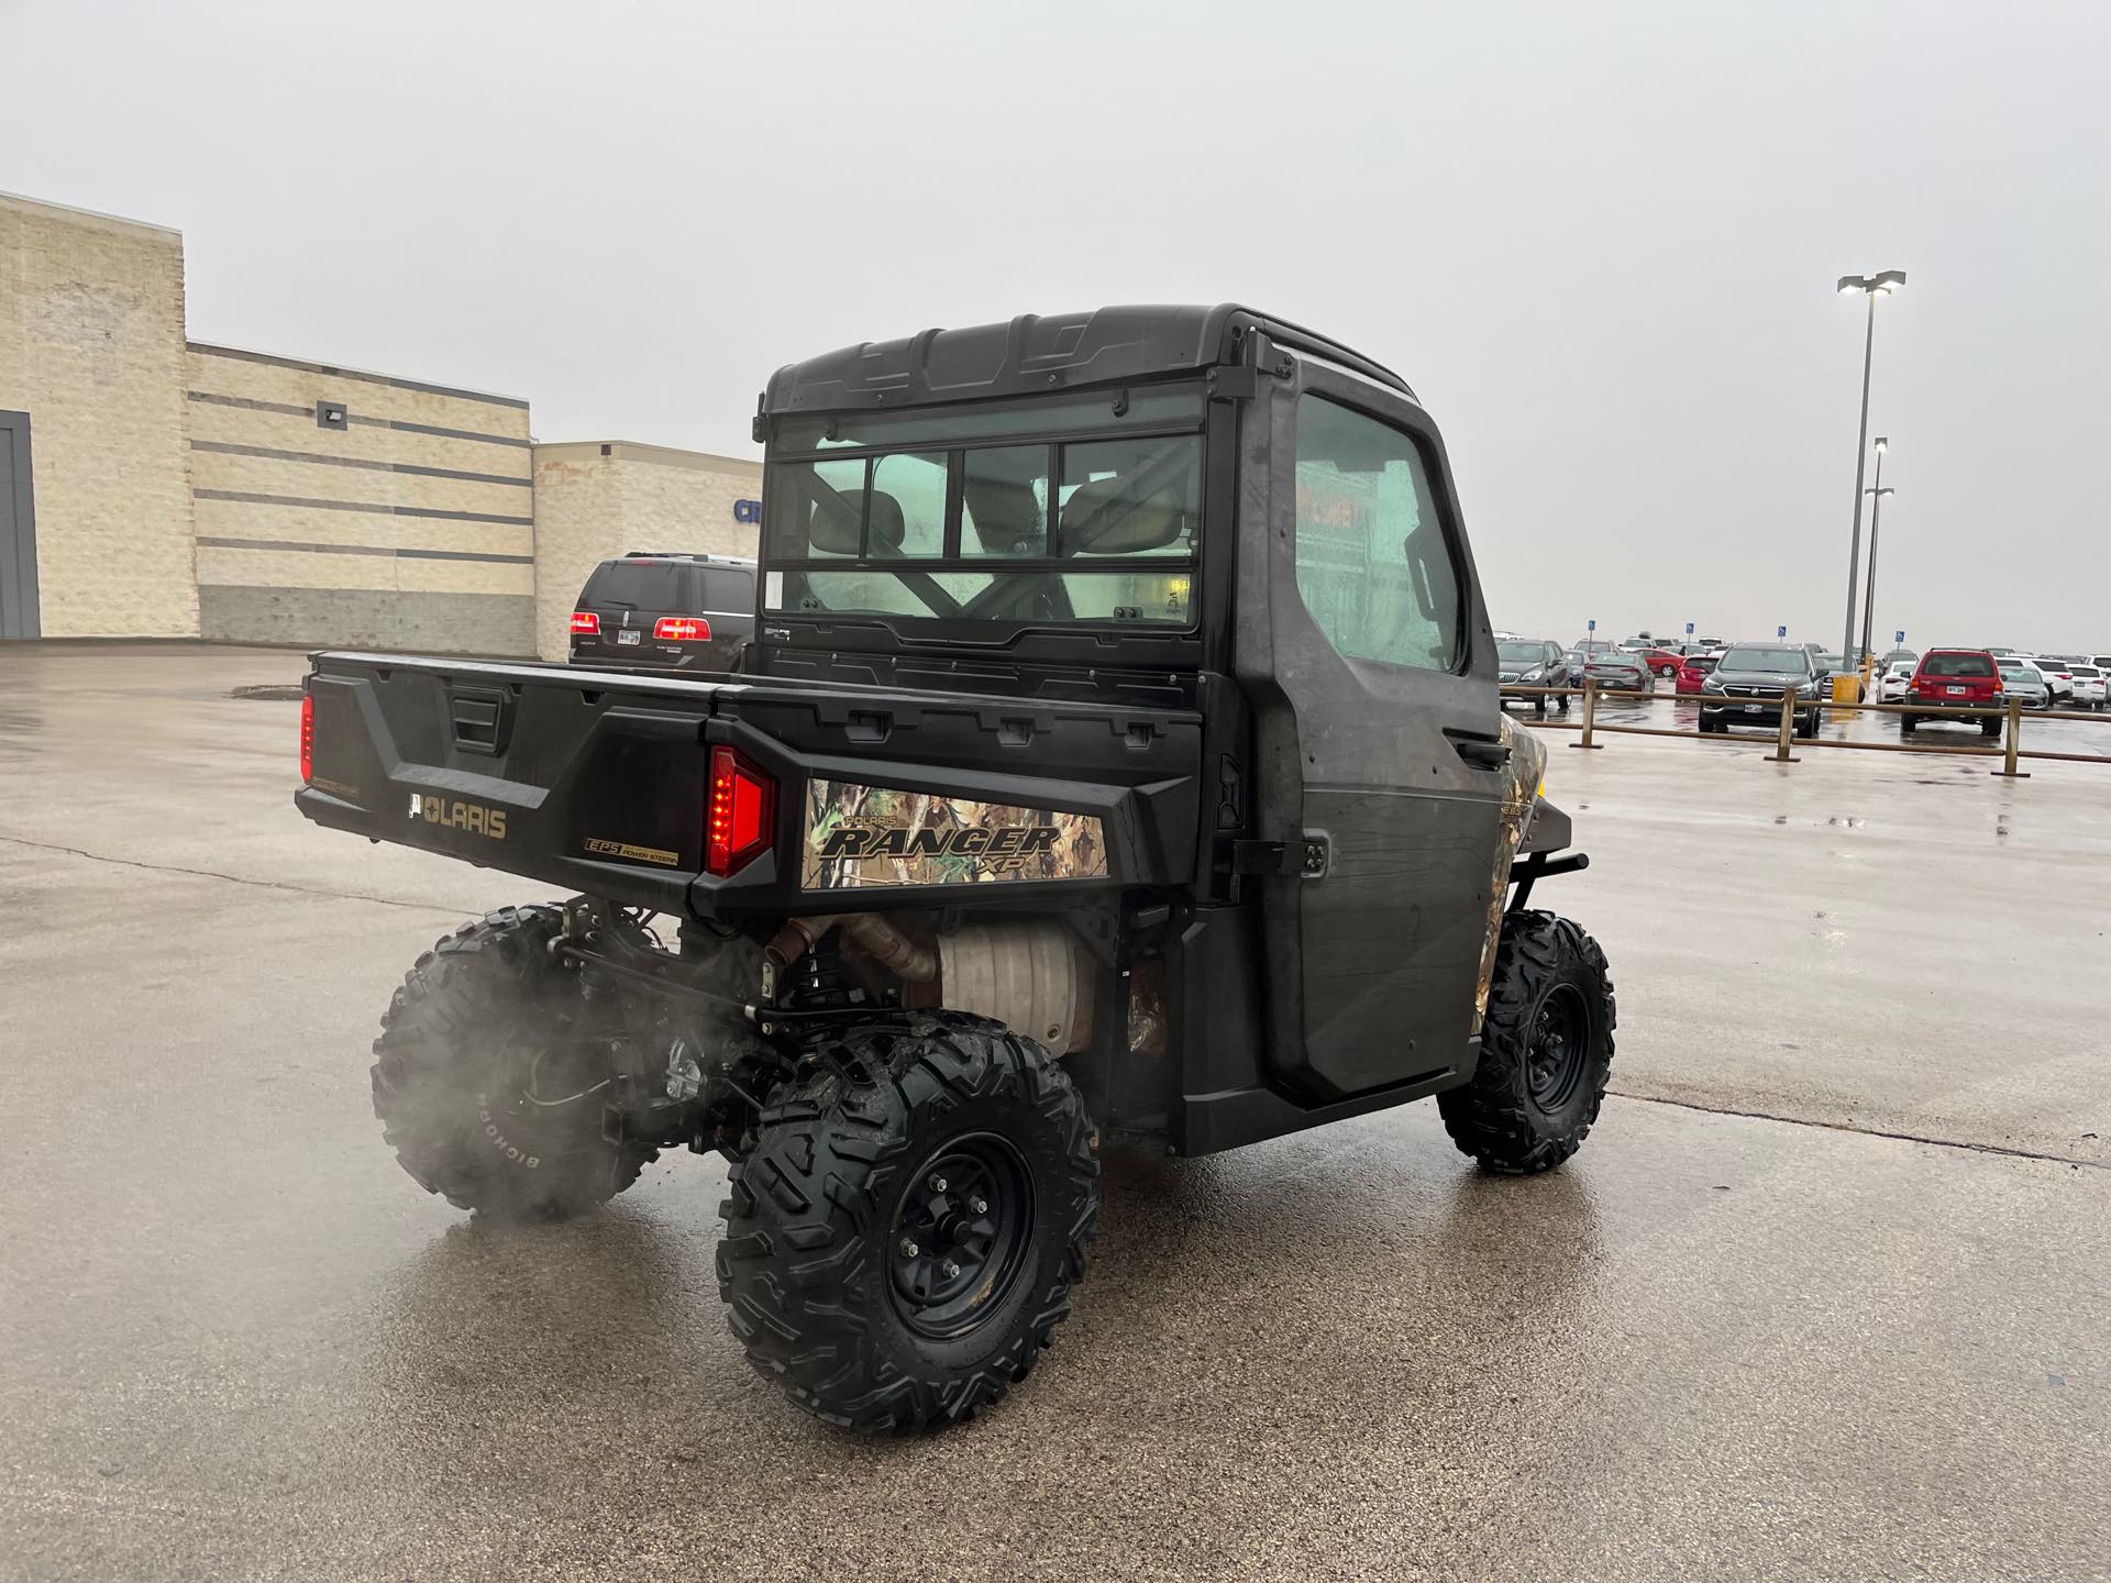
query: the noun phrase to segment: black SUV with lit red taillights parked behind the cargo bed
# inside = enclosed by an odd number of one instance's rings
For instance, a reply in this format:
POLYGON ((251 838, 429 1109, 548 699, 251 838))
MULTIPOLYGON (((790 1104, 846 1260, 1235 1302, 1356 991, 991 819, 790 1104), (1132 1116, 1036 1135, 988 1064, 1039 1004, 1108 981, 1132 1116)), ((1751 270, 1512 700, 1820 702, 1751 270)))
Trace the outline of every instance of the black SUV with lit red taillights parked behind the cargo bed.
POLYGON ((730 671, 756 635, 756 564, 633 551, 602 561, 572 610, 572 665, 730 671))

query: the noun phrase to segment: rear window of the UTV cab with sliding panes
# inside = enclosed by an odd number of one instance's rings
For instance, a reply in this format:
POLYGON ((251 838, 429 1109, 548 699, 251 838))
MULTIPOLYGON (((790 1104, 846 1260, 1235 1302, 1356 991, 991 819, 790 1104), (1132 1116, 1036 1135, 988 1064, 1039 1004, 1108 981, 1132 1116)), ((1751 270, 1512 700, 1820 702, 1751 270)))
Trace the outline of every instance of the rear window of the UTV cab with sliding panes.
POLYGON ((802 418, 766 473, 764 606, 1193 627, 1201 395, 802 418))

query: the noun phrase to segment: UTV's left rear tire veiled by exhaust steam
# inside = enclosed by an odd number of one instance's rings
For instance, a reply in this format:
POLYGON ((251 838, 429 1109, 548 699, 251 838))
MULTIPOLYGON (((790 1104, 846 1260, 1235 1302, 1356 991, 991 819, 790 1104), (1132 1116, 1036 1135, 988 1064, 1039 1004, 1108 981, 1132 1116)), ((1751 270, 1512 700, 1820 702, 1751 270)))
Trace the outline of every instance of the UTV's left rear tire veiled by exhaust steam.
POLYGON ((602 1138, 608 1066, 557 908, 505 908, 418 958, 374 1041, 374 1114, 397 1163, 456 1209, 562 1220, 616 1197, 659 1150, 602 1138))

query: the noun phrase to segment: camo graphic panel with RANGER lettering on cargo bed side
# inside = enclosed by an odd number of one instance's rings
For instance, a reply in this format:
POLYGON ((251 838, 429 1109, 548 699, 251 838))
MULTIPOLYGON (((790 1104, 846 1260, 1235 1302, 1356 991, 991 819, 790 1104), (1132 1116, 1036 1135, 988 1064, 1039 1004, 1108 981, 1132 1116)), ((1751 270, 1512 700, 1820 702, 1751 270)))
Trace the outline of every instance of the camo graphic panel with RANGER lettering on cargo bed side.
POLYGON ((992 884, 1104 880, 1098 815, 969 802, 859 781, 811 781, 800 884, 992 884))

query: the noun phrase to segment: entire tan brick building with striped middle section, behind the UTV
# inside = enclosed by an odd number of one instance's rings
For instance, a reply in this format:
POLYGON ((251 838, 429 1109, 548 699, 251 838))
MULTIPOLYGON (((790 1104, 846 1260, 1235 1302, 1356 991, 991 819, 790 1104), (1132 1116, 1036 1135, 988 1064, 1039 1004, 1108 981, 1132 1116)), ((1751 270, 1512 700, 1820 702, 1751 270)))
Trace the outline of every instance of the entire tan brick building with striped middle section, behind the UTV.
POLYGON ((562 659, 593 564, 754 555, 754 460, 184 338, 173 230, 0 194, 0 637, 562 659))

